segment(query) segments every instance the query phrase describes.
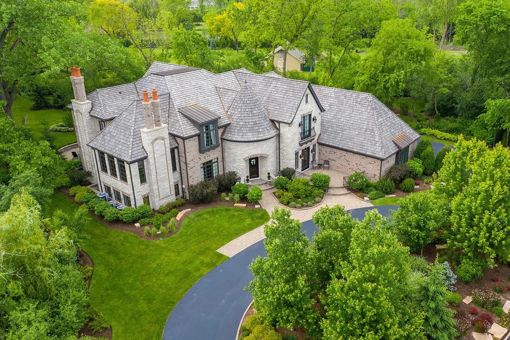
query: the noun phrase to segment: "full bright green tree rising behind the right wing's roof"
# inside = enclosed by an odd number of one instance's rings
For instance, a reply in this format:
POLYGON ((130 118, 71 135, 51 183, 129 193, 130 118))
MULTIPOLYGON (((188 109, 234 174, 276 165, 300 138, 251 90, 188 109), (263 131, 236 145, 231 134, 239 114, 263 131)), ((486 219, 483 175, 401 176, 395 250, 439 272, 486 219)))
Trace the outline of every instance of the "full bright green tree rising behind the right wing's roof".
POLYGON ((424 75, 435 54, 432 39, 410 19, 382 22, 372 50, 373 54, 361 66, 354 87, 369 91, 386 103, 403 93, 410 77, 424 75))

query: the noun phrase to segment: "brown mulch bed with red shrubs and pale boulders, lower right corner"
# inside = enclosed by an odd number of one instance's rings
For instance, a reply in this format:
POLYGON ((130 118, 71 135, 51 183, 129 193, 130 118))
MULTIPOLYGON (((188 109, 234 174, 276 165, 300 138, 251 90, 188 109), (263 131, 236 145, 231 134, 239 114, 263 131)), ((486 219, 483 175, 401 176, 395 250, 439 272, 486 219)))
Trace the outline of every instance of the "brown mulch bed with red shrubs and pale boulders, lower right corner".
MULTIPOLYGON (((436 254, 441 253, 445 250, 438 251, 436 249, 435 245, 427 245, 423 249, 423 256, 427 259, 429 262, 434 262, 436 260, 436 254)), ((419 254, 419 253, 417 253, 419 254)), ((492 317, 494 322, 497 322, 498 317, 492 312, 492 310, 484 310, 483 308, 480 308, 478 306, 475 306, 472 302, 467 305, 462 300, 466 298, 467 296, 471 295, 474 289, 481 289, 481 290, 488 290, 494 292, 494 287, 496 286, 496 282, 493 281, 495 277, 499 278, 498 282, 501 282, 502 285, 506 286, 507 284, 510 284, 510 267, 506 264, 502 264, 501 262, 495 260, 495 266, 494 268, 486 269, 483 271, 483 277, 471 282, 470 284, 466 284, 463 281, 457 279, 457 283, 455 284, 455 287, 457 288, 455 290, 455 293, 458 293, 462 296, 461 303, 458 304, 458 306, 450 304, 448 307, 455 310, 457 314, 456 317, 479 317, 479 315, 482 312, 489 313, 492 317), (478 315, 473 315, 469 312, 469 309, 472 307, 476 307, 478 309, 478 315)), ((451 263, 450 263, 451 266, 451 263)), ((506 300, 510 300, 510 292, 505 293, 497 293, 501 297, 501 306, 506 300)), ((469 330, 466 335, 464 335, 461 339, 462 340, 472 340, 473 336, 471 335, 471 332, 473 329, 469 330)))

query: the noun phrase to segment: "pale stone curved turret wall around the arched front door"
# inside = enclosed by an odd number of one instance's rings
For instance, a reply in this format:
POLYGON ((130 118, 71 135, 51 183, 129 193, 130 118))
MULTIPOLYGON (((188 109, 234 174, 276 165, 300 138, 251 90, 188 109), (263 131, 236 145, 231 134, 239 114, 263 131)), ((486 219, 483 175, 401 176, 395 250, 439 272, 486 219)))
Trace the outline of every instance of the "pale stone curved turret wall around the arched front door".
POLYGON ((248 160, 259 158, 259 178, 266 179, 267 173, 277 176, 278 136, 257 142, 223 141, 225 172, 235 171, 241 179, 249 175, 248 160))

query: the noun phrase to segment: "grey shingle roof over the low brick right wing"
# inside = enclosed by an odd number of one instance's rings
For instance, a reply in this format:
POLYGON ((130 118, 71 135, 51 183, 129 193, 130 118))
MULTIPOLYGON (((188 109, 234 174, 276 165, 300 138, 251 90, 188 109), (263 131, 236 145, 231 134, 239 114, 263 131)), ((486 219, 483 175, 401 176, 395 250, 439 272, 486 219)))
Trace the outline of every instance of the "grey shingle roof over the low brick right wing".
POLYGON ((392 138, 405 133, 420 137, 370 93, 313 85, 326 112, 321 116, 319 143, 385 159, 398 151, 392 138))

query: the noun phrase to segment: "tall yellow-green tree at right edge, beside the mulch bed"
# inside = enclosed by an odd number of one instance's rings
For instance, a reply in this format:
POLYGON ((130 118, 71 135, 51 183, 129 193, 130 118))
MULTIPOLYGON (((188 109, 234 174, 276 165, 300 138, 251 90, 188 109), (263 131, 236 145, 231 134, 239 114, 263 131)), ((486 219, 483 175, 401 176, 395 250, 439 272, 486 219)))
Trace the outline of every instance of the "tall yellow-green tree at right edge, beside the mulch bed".
MULTIPOLYGON (((455 153, 456 150, 449 155, 455 153)), ((448 156, 445 161, 450 160, 448 156)), ((510 153, 501 144, 497 144, 493 150, 485 150, 482 154, 478 149, 473 149, 466 158, 468 161, 476 161, 467 166, 470 170, 470 174, 465 174, 467 184, 451 202, 452 229, 448 246, 460 248, 468 256, 481 253, 489 258, 497 256, 501 261, 508 262, 510 153)), ((447 164, 445 163, 443 169, 447 164)), ((443 169, 440 173, 443 173, 443 169)), ((457 173, 464 175, 462 171, 457 173)), ((443 175, 445 174, 446 171, 443 175)))

